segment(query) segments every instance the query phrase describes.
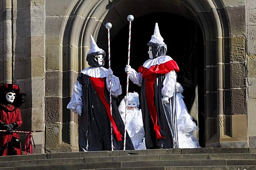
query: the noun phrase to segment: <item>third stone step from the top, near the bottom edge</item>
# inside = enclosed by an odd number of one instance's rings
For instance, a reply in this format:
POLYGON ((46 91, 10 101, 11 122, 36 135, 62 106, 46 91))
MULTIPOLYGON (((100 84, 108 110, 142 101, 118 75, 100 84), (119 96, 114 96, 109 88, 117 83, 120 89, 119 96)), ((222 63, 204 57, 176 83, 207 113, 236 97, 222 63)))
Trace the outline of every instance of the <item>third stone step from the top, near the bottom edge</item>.
MULTIPOLYGON (((254 167, 256 168, 255 160, 172 160, 172 161, 138 161, 138 162, 105 162, 105 163, 74 163, 66 162, 67 160, 60 160, 57 164, 51 164, 50 162, 41 162, 41 164, 33 163, 27 166, 13 165, 9 162, 9 165, 0 169, 146 169, 146 168, 182 168, 182 167, 254 167)), ((53 162, 52 162, 53 163, 53 162)))

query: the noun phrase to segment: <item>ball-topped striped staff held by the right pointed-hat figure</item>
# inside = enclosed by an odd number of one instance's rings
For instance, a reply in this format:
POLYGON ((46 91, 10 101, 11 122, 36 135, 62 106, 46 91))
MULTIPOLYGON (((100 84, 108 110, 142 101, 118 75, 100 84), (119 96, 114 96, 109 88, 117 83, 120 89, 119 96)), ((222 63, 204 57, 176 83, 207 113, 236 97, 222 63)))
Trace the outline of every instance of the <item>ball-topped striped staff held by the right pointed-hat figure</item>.
MULTIPOLYGON (((129 21, 129 42, 128 42, 128 61, 127 65, 130 65, 130 45, 131 45, 131 28, 132 21, 134 20, 133 15, 128 15, 127 20, 129 21)), ((129 88, 129 71, 127 72, 126 79, 126 99, 125 99, 125 118, 124 118, 124 150, 126 146, 126 114, 127 114, 127 102, 128 102, 128 88, 129 88)))

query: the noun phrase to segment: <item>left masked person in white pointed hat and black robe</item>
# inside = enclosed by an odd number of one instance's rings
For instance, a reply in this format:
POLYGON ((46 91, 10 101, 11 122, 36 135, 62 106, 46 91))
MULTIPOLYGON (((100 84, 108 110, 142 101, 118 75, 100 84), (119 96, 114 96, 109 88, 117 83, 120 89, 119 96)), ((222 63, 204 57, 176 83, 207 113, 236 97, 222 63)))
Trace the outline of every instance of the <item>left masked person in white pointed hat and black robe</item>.
MULTIPOLYGON (((122 87, 113 71, 102 67, 105 55, 104 50, 97 46, 91 36, 91 49, 86 57, 90 67, 79 74, 74 85, 74 94, 67 106, 79 115, 79 151, 111 150, 110 122, 113 125, 114 150, 124 148, 124 123, 113 98, 122 94, 122 87), (110 86, 112 115, 109 105, 110 86)), ((127 150, 134 149, 127 133, 125 147, 127 150)))

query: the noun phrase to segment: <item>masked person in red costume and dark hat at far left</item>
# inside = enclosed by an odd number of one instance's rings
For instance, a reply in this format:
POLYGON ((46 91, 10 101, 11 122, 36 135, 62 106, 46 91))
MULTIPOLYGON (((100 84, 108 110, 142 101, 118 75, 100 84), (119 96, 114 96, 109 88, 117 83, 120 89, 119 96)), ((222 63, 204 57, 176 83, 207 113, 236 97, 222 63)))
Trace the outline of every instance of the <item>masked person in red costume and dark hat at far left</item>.
POLYGON ((20 106, 25 102, 16 84, 0 85, 0 155, 21 155, 20 137, 17 131, 22 124, 20 106))

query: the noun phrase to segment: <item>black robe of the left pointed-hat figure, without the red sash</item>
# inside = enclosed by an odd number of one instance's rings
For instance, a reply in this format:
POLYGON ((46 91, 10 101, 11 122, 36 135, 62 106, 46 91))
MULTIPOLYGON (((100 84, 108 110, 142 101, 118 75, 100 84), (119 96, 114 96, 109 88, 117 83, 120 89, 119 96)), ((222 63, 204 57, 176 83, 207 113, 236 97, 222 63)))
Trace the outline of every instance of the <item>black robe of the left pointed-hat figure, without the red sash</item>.
MULTIPOLYGON (((106 87, 106 78, 97 78, 104 81, 104 95, 105 101, 109 106, 109 91, 106 87)), ((82 114, 79 117, 79 129, 78 129, 78 144, 79 151, 99 151, 99 150, 111 150, 111 128, 108 113, 105 105, 99 97, 97 91, 94 89, 93 84, 88 75, 80 73, 78 82, 82 85, 83 92, 83 108, 82 114)), ((113 133, 113 145, 114 150, 123 150, 124 148, 124 123, 118 108, 115 104, 114 98, 112 101, 112 116, 116 124, 117 129, 121 133, 122 141, 118 141, 113 133)), ((132 141, 129 134, 126 133, 126 150, 133 150, 132 141)))

